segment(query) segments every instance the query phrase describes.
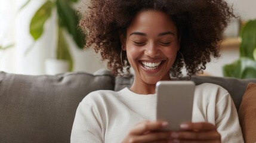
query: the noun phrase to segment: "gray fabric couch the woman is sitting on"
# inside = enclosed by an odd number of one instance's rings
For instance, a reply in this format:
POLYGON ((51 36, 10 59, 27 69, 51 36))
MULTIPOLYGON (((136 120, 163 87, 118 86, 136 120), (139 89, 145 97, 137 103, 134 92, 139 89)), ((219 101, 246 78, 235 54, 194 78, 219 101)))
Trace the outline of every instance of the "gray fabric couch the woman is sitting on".
MULTIPOLYGON (((224 77, 192 77, 198 85, 215 83, 226 88, 239 108, 248 82, 224 77)), ((27 76, 0 73, 0 142, 70 142, 70 132, 79 102, 90 92, 119 91, 133 77, 113 77, 108 70, 94 74, 63 73, 27 76)))

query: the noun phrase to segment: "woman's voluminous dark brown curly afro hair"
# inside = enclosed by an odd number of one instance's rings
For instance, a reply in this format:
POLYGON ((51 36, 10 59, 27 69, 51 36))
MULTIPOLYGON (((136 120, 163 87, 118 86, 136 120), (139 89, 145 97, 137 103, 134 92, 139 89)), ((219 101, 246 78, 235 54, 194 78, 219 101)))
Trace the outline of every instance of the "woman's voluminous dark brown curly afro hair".
MULTIPOLYGON (((187 76, 202 73, 206 63, 220 57, 222 33, 235 15, 224 0, 91 0, 79 8, 81 29, 87 33, 85 48, 100 52, 113 74, 124 75, 119 32, 125 35, 135 15, 144 10, 168 14, 181 35, 180 52, 170 69, 180 78, 186 67, 187 76)), ((126 55, 122 56, 125 59, 126 55)), ((129 63, 128 72, 129 72, 129 63)))

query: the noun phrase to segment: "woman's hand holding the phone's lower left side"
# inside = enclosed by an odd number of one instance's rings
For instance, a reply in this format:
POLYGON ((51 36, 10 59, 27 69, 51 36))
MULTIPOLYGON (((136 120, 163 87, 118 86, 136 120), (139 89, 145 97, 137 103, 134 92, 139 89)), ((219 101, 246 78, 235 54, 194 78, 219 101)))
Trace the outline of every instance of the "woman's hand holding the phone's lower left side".
POLYGON ((170 132, 159 132, 157 130, 168 126, 167 122, 146 120, 135 125, 129 130, 122 143, 133 142, 168 142, 170 132))

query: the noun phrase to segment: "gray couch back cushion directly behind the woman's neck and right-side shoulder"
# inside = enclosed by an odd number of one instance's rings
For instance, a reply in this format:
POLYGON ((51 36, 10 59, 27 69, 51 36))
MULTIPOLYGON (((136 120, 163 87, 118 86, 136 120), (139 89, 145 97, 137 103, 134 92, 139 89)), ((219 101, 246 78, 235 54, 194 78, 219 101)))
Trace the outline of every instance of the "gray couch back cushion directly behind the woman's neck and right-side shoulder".
MULTIPOLYGON (((130 87, 134 77, 132 75, 128 77, 116 77, 115 91, 120 91, 125 87, 130 87)), ((181 80, 186 80, 183 78, 181 80)), ((236 109, 239 109, 239 105, 242 101, 243 93, 245 92, 246 86, 249 82, 256 83, 256 79, 236 79, 233 77, 214 77, 214 76, 192 76, 191 80, 200 85, 202 83, 214 83, 220 85, 229 91, 236 109)))

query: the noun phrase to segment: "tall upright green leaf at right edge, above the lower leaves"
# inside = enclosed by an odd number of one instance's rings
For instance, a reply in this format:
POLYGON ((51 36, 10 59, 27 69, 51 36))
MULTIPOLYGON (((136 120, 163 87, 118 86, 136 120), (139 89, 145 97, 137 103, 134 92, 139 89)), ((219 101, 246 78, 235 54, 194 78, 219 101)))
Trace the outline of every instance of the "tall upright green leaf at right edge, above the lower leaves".
POLYGON ((241 29, 240 38, 242 42, 239 45, 240 57, 254 59, 253 51, 256 47, 256 19, 249 20, 241 29))

